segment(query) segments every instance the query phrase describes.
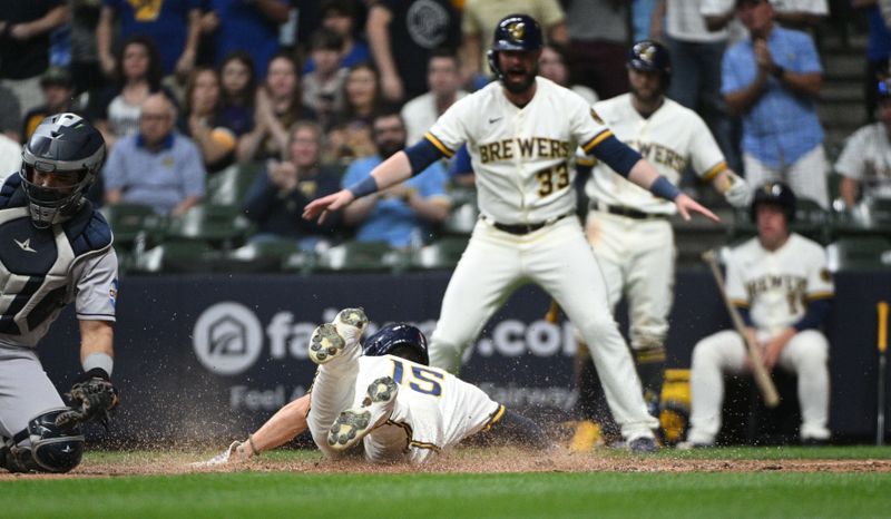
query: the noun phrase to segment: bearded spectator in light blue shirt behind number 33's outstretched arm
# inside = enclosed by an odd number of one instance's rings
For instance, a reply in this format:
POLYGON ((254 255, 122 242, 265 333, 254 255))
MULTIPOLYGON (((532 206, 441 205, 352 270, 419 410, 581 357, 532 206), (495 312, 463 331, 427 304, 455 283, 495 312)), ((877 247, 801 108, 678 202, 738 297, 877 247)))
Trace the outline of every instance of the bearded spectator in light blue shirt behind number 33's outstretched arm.
MULTIPOLYGON (((354 161, 343 177, 351 186, 371 175, 371 170, 405 147, 405 124, 399 114, 386 112, 372 121, 378 155, 354 161)), ((344 212, 344 222, 356 226, 360 242, 386 242, 405 248, 420 238, 428 241, 431 224, 449 216, 451 200, 446 194, 448 176, 440 163, 421 174, 374 195, 359 198, 344 212)))

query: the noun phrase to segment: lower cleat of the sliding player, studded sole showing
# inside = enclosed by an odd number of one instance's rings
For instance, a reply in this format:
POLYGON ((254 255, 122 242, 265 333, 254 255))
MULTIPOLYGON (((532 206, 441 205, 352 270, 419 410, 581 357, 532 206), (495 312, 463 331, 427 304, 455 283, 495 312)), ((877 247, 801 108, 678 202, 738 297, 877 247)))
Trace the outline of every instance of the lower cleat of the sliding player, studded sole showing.
POLYGON ((334 450, 345 450, 385 422, 392 413, 391 403, 399 386, 390 376, 383 376, 369 385, 365 399, 359 409, 343 411, 327 433, 327 444, 334 450))

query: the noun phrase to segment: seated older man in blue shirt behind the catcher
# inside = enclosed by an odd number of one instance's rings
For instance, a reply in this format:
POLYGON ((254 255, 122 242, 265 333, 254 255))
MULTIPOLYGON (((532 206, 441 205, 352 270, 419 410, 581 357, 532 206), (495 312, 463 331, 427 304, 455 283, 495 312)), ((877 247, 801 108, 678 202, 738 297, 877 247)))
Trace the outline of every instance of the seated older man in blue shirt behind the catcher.
POLYGON ((118 140, 105 165, 107 204, 141 204, 158 214, 179 215, 204 197, 202 154, 174 130, 175 123, 176 108, 167 96, 146 99, 139 133, 118 140))

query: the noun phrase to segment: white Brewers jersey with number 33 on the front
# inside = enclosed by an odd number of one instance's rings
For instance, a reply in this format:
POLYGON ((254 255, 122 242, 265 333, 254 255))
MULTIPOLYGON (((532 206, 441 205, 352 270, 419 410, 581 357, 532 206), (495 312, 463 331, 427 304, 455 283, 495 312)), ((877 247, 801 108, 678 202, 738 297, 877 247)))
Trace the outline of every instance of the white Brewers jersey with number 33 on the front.
POLYGON ((452 105, 425 135, 448 157, 467 141, 480 212, 501 224, 575 212, 572 155, 613 135, 579 95, 542 77, 536 85, 519 108, 491 82, 452 105))

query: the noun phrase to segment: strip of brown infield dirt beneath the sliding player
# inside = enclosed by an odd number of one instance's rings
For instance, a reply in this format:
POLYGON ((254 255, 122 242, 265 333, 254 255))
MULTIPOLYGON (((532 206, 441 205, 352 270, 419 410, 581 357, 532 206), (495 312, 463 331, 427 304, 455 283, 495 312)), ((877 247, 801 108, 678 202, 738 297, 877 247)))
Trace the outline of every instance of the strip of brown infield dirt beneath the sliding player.
MULTIPOLYGON (((712 458, 718 458, 716 454, 712 458)), ((107 457, 104 457, 107 458, 107 457)), ((287 457, 285 457, 287 458, 287 457)), ((634 457, 627 453, 594 451, 572 453, 555 450, 529 453, 512 449, 460 449, 415 467, 405 463, 370 464, 361 460, 327 461, 321 454, 294 459, 260 458, 236 467, 194 469, 188 463, 198 454, 138 452, 121 453, 114 461, 87 459, 68 474, 9 474, 0 481, 19 478, 96 478, 117 476, 167 476, 190 472, 298 472, 298 473, 507 473, 507 472, 891 472, 889 459, 703 459, 682 453, 672 457, 634 457)))

